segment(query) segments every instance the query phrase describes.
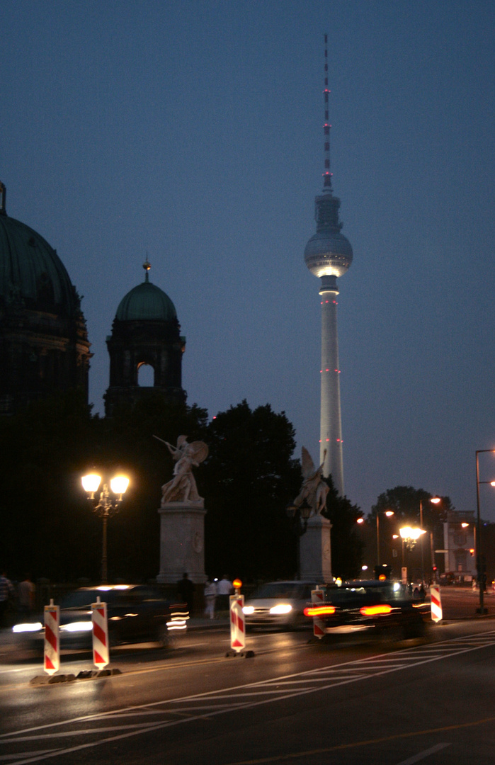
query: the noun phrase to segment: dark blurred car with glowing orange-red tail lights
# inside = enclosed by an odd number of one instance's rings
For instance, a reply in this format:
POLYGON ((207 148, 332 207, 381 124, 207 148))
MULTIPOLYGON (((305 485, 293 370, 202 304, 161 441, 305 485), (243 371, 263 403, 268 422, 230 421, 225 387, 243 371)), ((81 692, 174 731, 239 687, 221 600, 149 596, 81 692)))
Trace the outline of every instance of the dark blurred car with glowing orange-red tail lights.
POLYGON ((327 590, 325 600, 308 604, 304 615, 318 618, 326 636, 367 631, 400 640, 424 634, 430 604, 413 599, 397 581, 357 580, 327 590))

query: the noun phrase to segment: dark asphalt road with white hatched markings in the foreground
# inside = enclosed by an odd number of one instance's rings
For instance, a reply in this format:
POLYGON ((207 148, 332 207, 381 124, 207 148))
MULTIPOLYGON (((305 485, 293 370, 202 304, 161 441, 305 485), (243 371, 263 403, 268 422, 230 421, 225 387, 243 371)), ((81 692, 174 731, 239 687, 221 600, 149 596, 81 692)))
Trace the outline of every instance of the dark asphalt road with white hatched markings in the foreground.
POLYGON ((0 763, 493 763, 495 620, 402 643, 309 636, 249 634, 248 659, 226 657, 225 625, 191 630, 170 652, 114 651, 122 675, 42 687, 38 662, 10 656, 0 763))

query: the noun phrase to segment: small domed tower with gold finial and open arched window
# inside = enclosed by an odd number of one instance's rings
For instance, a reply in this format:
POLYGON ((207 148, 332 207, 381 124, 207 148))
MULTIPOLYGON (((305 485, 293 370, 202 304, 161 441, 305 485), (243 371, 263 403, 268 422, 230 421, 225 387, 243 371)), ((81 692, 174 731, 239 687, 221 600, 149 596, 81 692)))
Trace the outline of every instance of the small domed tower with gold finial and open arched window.
POLYGON ((149 281, 151 268, 143 264, 145 281, 119 303, 106 338, 110 356, 110 384, 105 394, 105 413, 111 416, 120 406, 132 406, 152 392, 161 392, 171 402, 185 402, 182 389, 182 354, 186 338, 171 299, 149 281), (142 384, 146 370, 152 374, 142 384), (148 383, 148 384, 147 384, 148 383))

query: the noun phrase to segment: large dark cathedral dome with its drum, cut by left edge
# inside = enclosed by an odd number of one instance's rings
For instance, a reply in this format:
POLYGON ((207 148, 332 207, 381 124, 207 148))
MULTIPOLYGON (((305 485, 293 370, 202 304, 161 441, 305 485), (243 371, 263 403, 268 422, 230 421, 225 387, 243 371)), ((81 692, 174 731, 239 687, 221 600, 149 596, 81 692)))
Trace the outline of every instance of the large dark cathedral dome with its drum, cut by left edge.
POLYGON ((88 396, 90 343, 57 251, 7 214, 0 183, 0 414, 54 392, 88 396))

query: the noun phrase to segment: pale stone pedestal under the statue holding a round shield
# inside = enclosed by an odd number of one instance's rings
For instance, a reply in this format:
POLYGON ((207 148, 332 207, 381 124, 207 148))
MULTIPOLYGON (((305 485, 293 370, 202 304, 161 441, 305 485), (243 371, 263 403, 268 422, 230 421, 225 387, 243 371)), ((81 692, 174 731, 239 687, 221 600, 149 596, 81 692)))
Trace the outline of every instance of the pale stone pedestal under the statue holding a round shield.
POLYGON ((160 584, 176 584, 187 571, 194 584, 207 581, 204 573, 204 516, 200 502, 171 502, 160 513, 160 584))

